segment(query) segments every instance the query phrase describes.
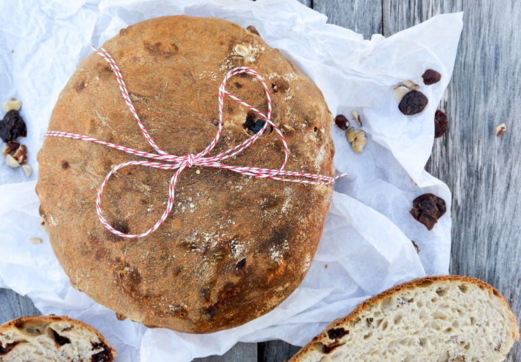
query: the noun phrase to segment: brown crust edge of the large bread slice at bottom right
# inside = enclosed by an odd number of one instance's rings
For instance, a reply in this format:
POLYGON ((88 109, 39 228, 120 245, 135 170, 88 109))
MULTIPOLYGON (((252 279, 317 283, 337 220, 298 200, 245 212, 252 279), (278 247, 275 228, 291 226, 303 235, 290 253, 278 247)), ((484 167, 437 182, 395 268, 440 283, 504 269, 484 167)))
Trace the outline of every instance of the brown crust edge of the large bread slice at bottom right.
POLYGON ((338 326, 348 324, 348 322, 352 322, 357 320, 357 317, 360 315, 360 313, 364 310, 368 310, 371 308, 371 306, 380 303, 384 299, 387 299, 388 297, 391 297, 393 295, 398 294, 399 292, 407 289, 414 289, 418 285, 422 283, 428 283, 428 282, 451 282, 451 281, 458 281, 458 282, 465 282, 465 283, 471 283, 479 285, 483 288, 486 288, 487 290, 490 290, 496 297, 499 298, 501 301, 501 304, 506 306, 506 309, 508 310, 508 319, 511 321, 511 324, 515 326, 513 328, 513 340, 519 340, 520 334, 519 334, 519 328, 518 324, 515 320, 515 315, 512 313, 510 308, 508 307, 508 303, 506 302, 506 299, 499 293, 492 285, 489 285, 485 283, 484 281, 481 281, 480 279, 471 278, 469 276, 458 276, 458 275, 442 275, 442 276, 424 276, 423 278, 416 278, 412 281, 408 281, 406 283, 398 284, 394 286, 393 288, 390 288, 388 290, 384 290, 384 292, 381 292, 380 294, 376 294, 374 297, 371 297, 369 299, 366 299, 365 301, 361 302, 349 315, 345 317, 338 318, 334 320, 333 322, 327 324, 324 331, 322 331, 318 336, 313 338, 307 345, 302 347, 295 356, 293 356, 292 359, 288 362, 299 362, 302 361, 304 356, 309 353, 309 351, 313 348, 313 346, 316 343, 323 342, 327 340, 327 331, 329 329, 334 329, 338 326))

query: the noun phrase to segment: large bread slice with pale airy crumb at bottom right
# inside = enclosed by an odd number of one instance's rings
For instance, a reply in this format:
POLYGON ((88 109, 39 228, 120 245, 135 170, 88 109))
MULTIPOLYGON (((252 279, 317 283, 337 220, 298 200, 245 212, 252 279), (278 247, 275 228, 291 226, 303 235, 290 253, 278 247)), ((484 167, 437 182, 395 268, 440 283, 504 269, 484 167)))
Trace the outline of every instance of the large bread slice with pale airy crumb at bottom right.
POLYGON ((499 362, 515 340, 519 327, 497 290, 465 276, 427 276, 359 304, 290 362, 499 362))

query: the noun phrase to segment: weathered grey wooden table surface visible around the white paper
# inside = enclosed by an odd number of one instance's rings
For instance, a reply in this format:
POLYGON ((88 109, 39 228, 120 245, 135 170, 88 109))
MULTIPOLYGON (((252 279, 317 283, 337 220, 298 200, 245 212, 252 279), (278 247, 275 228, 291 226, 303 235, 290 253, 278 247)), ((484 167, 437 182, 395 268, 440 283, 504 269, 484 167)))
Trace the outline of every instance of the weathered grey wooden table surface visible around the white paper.
MULTIPOLYGON (((521 317, 521 1, 300 0, 329 22, 370 38, 464 11, 456 66, 440 108, 449 129, 435 140, 427 171, 453 192, 451 274, 492 284, 521 317), (506 124, 497 137, 495 128, 506 124)), ((0 289, 0 323, 39 314, 26 297, 0 289)), ((298 347, 239 343, 198 362, 282 362, 298 347)), ((516 343, 506 361, 521 361, 516 343)))

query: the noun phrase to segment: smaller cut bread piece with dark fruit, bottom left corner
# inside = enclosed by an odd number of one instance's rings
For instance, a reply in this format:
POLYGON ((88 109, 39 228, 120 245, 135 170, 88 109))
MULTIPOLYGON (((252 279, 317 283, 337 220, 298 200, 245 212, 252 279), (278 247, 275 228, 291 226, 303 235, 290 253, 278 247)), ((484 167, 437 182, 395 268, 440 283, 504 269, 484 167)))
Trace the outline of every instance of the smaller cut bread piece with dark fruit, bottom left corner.
POLYGON ((33 315, 0 326, 1 362, 112 362, 100 332, 69 317, 33 315))

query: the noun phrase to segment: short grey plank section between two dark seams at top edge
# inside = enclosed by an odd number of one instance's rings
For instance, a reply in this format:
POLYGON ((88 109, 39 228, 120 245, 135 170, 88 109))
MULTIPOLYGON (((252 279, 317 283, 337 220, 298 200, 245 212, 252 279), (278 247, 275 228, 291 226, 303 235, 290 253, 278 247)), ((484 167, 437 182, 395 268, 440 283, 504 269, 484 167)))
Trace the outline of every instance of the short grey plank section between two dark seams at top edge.
POLYGON ((313 0, 313 9, 327 15, 330 24, 361 33, 366 39, 383 30, 381 0, 313 0))

